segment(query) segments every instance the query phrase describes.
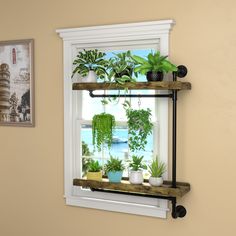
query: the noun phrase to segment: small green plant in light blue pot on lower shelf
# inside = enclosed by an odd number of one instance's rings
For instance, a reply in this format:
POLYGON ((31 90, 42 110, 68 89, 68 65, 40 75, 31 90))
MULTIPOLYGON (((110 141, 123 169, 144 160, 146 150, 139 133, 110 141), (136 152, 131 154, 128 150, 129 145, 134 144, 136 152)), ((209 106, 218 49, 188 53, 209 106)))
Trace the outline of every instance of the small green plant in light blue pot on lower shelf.
POLYGON ((110 156, 110 160, 104 165, 104 171, 109 181, 113 183, 119 183, 121 181, 124 169, 122 160, 113 156, 110 156))

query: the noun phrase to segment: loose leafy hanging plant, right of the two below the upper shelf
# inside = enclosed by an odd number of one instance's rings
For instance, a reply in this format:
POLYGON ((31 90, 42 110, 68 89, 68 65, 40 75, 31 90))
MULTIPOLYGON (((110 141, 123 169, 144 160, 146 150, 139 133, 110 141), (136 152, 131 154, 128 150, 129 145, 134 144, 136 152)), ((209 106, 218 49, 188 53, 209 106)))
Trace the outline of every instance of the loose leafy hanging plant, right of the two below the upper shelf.
MULTIPOLYGON (((124 104, 123 104, 124 105, 124 104)), ((129 148, 131 151, 145 150, 147 136, 152 133, 151 110, 126 109, 128 118, 129 148)))

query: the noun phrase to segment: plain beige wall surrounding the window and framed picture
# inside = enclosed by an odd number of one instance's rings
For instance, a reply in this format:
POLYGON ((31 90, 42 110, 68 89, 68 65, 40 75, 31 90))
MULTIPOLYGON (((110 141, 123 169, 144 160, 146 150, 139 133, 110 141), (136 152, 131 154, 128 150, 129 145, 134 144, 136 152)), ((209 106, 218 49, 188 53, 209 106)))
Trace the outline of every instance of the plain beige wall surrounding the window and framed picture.
MULTIPOLYGON (((0 40, 35 39, 36 127, 0 127, 0 235, 236 233, 235 0, 0 0, 0 40), (63 65, 57 28, 175 19, 171 58, 189 68, 178 113, 184 219, 65 206, 63 65)), ((68 78, 69 79, 69 78, 68 78)))

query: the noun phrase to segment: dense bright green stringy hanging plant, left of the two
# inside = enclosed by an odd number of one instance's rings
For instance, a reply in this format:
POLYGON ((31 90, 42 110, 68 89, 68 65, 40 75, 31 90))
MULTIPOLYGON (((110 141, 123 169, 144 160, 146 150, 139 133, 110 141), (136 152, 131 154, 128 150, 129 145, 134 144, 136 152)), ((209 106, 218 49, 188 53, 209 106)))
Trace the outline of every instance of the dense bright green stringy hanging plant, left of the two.
POLYGON ((111 114, 101 113, 94 115, 92 120, 92 136, 93 145, 96 146, 98 151, 101 147, 107 144, 111 148, 113 130, 115 128, 115 117, 111 114))

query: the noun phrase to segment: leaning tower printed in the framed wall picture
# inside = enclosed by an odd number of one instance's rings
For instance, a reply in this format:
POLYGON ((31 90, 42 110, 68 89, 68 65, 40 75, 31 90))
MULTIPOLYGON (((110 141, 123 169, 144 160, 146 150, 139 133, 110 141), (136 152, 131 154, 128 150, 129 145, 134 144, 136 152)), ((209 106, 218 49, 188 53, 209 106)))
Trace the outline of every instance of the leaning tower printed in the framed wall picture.
POLYGON ((0 121, 10 121, 10 72, 8 64, 0 65, 0 121))

